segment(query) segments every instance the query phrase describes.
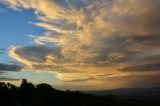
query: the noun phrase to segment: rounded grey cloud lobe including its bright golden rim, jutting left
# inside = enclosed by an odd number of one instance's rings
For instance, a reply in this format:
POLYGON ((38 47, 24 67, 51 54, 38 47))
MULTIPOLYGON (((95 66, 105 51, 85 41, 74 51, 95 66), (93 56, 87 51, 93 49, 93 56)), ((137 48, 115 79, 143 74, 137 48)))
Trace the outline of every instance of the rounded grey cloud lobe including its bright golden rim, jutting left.
POLYGON ((63 58, 60 54, 60 48, 44 45, 11 47, 9 55, 30 67, 40 66, 45 62, 49 63, 49 60, 50 62, 52 60, 56 62, 58 59, 63 58))

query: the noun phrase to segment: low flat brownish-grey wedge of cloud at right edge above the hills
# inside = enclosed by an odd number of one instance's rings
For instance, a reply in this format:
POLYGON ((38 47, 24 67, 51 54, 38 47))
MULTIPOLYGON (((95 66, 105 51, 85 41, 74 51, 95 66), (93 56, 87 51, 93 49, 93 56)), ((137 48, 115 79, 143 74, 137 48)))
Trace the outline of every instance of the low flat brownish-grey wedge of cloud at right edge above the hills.
POLYGON ((160 71, 160 63, 150 63, 136 66, 129 66, 121 69, 121 71, 142 72, 142 71, 160 71))

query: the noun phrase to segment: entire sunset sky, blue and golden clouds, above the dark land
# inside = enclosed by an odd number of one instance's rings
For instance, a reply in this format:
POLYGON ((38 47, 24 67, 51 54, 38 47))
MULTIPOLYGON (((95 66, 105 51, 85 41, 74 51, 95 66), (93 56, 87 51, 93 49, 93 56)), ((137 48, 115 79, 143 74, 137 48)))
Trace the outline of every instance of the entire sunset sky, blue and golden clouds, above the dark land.
POLYGON ((158 87, 159 0, 0 0, 0 81, 158 87))

